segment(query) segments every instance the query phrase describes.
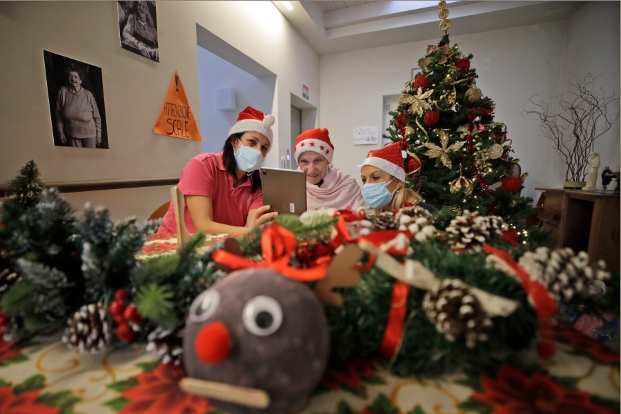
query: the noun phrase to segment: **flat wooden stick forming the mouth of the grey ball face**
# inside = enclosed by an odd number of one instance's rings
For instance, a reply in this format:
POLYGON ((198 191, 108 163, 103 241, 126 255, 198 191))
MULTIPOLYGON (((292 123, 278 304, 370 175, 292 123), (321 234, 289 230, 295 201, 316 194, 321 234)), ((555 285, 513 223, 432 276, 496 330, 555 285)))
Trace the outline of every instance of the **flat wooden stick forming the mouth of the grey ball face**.
POLYGON ((248 388, 233 384, 224 384, 185 377, 179 382, 181 390, 189 394, 201 395, 201 397, 213 398, 234 404, 267 408, 270 405, 270 396, 258 388, 248 388))

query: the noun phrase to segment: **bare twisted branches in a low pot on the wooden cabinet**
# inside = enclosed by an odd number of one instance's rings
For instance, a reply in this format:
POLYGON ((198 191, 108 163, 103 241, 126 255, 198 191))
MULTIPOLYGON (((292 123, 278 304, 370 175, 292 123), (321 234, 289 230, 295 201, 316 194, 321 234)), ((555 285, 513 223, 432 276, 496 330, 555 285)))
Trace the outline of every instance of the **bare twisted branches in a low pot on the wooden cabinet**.
POLYGON ((558 97, 557 112, 533 94, 530 108, 522 106, 522 116, 533 115, 540 121, 544 137, 555 145, 566 165, 567 181, 584 181, 589 156, 595 148, 595 139, 606 133, 619 119, 619 97, 595 89, 590 73, 578 81, 569 81, 569 93, 558 97))

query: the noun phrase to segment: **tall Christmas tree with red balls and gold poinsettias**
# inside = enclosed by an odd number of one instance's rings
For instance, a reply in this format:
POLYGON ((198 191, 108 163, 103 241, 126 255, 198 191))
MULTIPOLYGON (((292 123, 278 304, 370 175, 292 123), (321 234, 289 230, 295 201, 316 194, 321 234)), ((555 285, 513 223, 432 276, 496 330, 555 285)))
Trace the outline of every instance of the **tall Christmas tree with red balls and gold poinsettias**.
POLYGON ((477 88, 473 55, 449 43, 448 11, 440 2, 444 37, 429 45, 406 85, 384 134, 406 150, 406 185, 435 206, 477 211, 517 224, 532 201, 520 197, 527 174, 511 157, 506 126, 494 119, 495 103, 477 88))

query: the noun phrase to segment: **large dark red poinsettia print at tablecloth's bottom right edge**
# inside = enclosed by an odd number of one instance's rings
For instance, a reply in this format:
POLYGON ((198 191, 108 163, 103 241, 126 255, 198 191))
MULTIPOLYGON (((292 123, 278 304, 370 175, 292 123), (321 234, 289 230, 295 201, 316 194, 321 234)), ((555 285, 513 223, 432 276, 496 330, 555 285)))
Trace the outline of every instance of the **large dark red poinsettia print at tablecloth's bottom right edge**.
POLYGON ((496 378, 481 377, 483 393, 471 397, 493 407, 493 414, 610 413, 591 403, 584 391, 563 388, 540 373, 526 375, 505 365, 496 378))

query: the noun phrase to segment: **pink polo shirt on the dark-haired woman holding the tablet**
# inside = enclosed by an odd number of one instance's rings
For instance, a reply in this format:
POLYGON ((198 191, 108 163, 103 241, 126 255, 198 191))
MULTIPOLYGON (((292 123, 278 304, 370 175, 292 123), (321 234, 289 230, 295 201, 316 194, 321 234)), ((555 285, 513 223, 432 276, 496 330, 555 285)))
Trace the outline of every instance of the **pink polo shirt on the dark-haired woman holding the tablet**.
MULTIPOLYGON (((250 193, 250 179, 233 188, 233 178, 224 168, 222 152, 217 154, 208 152, 190 159, 186 168, 181 170, 177 188, 184 195, 210 197, 213 221, 230 226, 245 226, 248 211, 263 206, 263 192, 257 190, 250 193)), ((188 206, 185 208, 184 217, 188 231, 196 233, 188 206)), ((157 233, 177 233, 172 201, 157 233)))

